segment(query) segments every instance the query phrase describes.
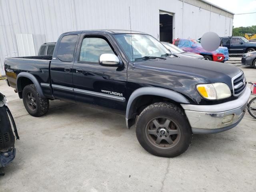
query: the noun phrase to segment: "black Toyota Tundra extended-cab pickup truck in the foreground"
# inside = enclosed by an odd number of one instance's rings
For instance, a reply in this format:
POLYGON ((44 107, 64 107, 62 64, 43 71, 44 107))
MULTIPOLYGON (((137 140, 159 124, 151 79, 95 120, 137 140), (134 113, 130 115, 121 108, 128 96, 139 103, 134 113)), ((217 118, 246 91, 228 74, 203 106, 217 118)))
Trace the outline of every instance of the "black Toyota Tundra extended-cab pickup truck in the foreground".
MULTIPOLYGON (((192 134, 228 130, 243 118, 250 89, 235 66, 172 55, 154 37, 135 31, 62 34, 53 56, 6 58, 7 83, 32 116, 49 100, 96 104, 136 123, 151 154, 174 157, 192 134)), ((114 121, 114 120, 113 120, 114 121)))

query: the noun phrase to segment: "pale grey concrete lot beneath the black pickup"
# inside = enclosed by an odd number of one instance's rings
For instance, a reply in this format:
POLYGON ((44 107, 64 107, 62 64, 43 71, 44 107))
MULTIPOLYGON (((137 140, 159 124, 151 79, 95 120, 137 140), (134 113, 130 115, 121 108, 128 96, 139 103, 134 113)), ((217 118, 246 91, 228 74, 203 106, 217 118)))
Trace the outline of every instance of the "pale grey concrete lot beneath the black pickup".
MULTIPOLYGON (((256 82, 254 68, 240 68, 256 82)), ((0 92, 20 135, 0 191, 256 191, 256 120, 248 113, 231 130, 194 135, 181 156, 160 158, 140 146, 122 115, 50 101, 48 113, 35 118, 4 80, 0 92)))

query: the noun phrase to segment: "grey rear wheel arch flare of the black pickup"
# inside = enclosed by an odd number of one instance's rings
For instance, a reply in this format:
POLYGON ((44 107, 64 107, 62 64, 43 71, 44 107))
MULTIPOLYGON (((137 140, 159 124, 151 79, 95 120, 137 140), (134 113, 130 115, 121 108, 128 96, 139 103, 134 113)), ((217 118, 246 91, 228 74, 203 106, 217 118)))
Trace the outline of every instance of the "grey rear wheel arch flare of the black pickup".
POLYGON ((28 72, 20 72, 16 79, 16 86, 17 86, 17 92, 19 94, 19 97, 22 98, 22 90, 25 86, 29 84, 34 84, 36 86, 36 90, 38 91, 38 94, 40 97, 44 98, 44 94, 42 91, 42 88, 40 86, 40 83, 38 80, 30 73, 28 72))

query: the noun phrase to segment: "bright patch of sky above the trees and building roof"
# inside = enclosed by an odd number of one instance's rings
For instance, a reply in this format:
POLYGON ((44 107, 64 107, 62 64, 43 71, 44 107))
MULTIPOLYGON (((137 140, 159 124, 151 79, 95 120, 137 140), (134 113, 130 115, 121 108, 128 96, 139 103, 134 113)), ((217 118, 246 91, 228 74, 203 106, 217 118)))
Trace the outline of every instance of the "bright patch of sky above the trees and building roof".
MULTIPOLYGON (((207 0, 235 14, 256 12, 256 0, 207 0)), ((234 15, 234 27, 256 25, 256 13, 234 15)))

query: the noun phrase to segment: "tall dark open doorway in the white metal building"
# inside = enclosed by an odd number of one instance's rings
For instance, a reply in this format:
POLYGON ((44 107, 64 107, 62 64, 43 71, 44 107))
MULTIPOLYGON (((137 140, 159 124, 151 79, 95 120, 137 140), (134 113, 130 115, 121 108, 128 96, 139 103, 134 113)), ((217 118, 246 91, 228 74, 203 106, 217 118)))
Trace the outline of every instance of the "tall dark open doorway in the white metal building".
POLYGON ((172 43, 173 14, 159 11, 160 41, 172 43))

